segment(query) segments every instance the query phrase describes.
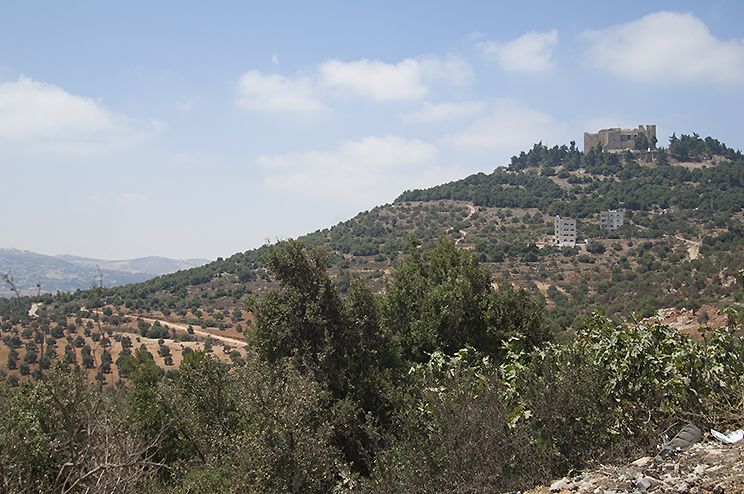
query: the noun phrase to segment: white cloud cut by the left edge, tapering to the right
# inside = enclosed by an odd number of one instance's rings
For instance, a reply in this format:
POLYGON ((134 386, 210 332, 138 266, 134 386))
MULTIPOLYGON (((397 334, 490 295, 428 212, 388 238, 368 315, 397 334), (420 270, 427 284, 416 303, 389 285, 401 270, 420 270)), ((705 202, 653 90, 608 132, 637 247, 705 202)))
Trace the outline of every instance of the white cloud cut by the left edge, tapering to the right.
POLYGON ((0 84, 0 142, 14 153, 100 154, 167 128, 164 121, 128 119, 90 98, 28 77, 0 84))

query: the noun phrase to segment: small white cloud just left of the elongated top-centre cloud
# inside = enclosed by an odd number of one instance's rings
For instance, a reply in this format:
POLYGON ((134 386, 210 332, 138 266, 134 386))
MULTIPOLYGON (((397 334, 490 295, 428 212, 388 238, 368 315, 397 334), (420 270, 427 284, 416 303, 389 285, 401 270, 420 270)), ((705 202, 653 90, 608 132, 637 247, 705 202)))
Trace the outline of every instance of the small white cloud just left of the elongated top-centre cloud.
POLYGON ((251 70, 240 78, 238 106, 246 110, 317 114, 328 111, 316 96, 309 77, 288 79, 251 70))

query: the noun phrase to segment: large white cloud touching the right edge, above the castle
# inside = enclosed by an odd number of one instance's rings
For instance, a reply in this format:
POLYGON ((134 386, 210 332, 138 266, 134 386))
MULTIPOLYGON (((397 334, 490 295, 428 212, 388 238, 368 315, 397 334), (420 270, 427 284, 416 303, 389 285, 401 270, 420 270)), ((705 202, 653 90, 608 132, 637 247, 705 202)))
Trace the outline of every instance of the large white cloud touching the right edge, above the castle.
POLYGON ((595 67, 635 81, 744 82, 744 40, 721 41, 690 13, 657 12, 581 37, 595 67))

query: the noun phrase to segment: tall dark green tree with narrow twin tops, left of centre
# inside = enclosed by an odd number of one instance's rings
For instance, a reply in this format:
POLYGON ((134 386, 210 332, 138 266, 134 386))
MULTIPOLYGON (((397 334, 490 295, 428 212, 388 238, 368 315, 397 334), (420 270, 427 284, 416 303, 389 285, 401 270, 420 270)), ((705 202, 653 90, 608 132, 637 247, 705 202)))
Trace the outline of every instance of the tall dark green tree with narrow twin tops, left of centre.
POLYGON ((365 424, 390 423, 385 390, 389 374, 400 369, 374 296, 353 280, 344 303, 326 273, 328 253, 320 247, 289 240, 263 260, 282 291, 272 290, 260 303, 249 299, 246 310, 255 317, 249 343, 262 362, 275 368, 289 363, 330 392, 328 407, 343 420, 336 444, 355 469, 367 471, 375 439, 365 424))

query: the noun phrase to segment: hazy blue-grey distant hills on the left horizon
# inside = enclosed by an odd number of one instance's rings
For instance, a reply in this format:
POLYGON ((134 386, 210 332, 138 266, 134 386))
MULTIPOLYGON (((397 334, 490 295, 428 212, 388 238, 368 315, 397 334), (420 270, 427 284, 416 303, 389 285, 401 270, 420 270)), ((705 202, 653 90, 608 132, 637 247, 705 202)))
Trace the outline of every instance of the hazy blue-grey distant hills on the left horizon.
MULTIPOLYGON (((16 288, 24 295, 74 292, 100 282, 105 286, 139 283, 157 276, 208 263, 207 259, 175 260, 164 257, 106 261, 72 255, 46 256, 18 249, 0 249, 0 272, 10 272, 16 288), (99 272, 100 269, 100 272, 99 272)), ((0 296, 10 296, 10 288, 0 286, 0 296)))

